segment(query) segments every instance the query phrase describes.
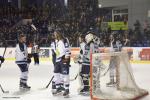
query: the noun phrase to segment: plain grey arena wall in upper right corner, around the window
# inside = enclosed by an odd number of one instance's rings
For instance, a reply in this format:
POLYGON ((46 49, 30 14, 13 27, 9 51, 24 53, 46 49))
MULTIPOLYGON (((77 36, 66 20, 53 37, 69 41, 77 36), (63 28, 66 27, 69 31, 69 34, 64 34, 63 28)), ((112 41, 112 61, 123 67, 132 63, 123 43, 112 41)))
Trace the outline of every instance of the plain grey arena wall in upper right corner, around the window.
POLYGON ((129 28, 134 27, 136 20, 143 25, 145 20, 150 21, 148 11, 150 10, 150 0, 99 0, 102 8, 122 8, 128 9, 128 25, 129 28))

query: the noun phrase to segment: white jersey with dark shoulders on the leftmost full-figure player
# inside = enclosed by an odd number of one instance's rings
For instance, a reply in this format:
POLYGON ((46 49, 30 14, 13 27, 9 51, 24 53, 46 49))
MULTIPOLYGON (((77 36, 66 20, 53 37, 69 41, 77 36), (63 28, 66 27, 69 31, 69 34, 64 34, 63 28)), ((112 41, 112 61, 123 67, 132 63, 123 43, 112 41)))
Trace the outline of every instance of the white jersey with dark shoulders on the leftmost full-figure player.
POLYGON ((15 53, 17 64, 27 64, 28 51, 25 43, 18 43, 15 53))

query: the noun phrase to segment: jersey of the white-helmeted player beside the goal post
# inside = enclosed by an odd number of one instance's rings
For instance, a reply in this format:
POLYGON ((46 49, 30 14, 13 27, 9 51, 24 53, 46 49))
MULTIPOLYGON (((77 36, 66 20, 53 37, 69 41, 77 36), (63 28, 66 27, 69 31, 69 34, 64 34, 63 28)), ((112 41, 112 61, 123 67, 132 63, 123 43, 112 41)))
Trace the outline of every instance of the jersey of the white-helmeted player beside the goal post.
POLYGON ((90 42, 85 45, 83 54, 83 65, 90 65, 90 53, 97 53, 97 48, 95 47, 94 42, 90 42))

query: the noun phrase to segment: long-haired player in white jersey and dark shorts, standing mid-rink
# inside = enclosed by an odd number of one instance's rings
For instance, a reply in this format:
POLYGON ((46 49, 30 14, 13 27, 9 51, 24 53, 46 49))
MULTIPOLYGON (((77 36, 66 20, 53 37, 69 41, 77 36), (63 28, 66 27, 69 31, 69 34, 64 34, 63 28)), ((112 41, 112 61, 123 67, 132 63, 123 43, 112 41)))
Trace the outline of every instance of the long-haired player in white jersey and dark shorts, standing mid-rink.
POLYGON ((54 32, 56 39, 56 64, 54 68, 54 81, 56 84, 56 92, 53 94, 59 94, 62 92, 61 82, 64 83, 64 93, 63 96, 69 96, 69 66, 68 62, 70 56, 68 55, 68 50, 66 43, 64 42, 63 36, 59 31, 54 32), (62 77, 63 76, 63 77, 62 77), (63 80, 62 80, 63 78, 63 80))

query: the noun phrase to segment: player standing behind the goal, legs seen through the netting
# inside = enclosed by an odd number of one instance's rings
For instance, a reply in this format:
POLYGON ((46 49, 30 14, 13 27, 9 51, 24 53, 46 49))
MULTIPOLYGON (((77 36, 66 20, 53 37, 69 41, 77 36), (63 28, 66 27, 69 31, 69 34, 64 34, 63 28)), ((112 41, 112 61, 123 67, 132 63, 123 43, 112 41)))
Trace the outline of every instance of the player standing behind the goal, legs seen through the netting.
MULTIPOLYGON (((110 52, 120 52, 122 49, 122 44, 117 36, 117 34, 112 34, 110 36, 110 52)), ((109 70, 110 70, 110 82, 107 83, 107 86, 114 86, 116 84, 116 67, 118 65, 118 57, 117 56, 111 56, 110 58, 110 64, 109 64, 109 70)))

